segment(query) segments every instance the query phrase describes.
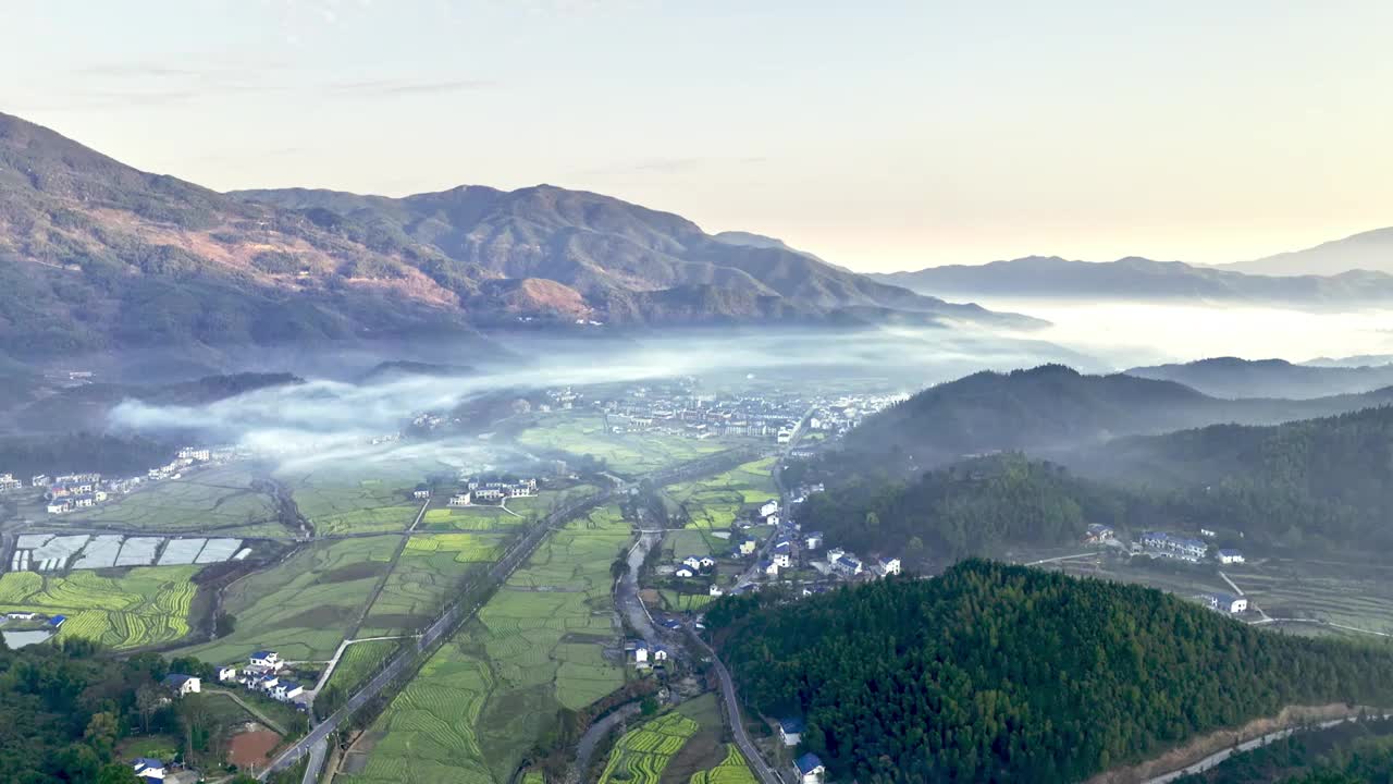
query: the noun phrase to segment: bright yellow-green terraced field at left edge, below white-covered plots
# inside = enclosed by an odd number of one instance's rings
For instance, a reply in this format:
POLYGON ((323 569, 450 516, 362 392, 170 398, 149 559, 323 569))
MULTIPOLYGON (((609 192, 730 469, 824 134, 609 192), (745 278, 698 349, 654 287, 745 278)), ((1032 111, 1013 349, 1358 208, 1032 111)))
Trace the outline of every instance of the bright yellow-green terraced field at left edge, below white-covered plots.
POLYGON ((59 636, 88 638, 113 649, 177 640, 188 633, 196 566, 135 568, 118 578, 96 572, 0 575, 0 612, 65 615, 59 636))

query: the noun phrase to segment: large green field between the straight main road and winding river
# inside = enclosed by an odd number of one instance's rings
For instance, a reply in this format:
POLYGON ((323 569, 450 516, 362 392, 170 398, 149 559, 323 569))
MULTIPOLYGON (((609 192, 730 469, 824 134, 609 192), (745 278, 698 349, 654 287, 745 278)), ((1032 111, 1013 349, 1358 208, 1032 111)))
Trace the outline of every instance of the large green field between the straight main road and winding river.
POLYGON ((609 566, 630 538, 614 506, 550 534, 393 700, 348 780, 507 781, 557 709, 621 686, 603 649, 617 642, 609 566))

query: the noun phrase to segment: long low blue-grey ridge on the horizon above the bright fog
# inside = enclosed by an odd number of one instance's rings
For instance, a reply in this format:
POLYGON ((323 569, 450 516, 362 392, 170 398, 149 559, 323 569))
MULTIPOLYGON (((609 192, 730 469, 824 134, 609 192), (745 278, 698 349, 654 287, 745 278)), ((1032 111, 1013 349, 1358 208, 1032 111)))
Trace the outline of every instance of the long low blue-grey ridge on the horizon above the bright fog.
POLYGON ((1393 266, 1382 272, 1330 268, 1300 276, 1258 269, 1195 266, 1180 261, 1120 258, 1068 261, 1031 255, 982 265, 931 266, 875 275, 885 283, 951 297, 1049 297, 1077 300, 1160 300, 1226 304, 1280 304, 1323 310, 1393 300, 1393 266))

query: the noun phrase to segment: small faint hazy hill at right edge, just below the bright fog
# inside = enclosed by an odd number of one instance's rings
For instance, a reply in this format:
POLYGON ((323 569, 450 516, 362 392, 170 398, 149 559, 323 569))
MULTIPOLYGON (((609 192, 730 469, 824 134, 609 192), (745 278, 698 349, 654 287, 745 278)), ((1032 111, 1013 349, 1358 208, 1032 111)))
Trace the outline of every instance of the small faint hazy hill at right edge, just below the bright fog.
POLYGON ((1215 357, 1183 364, 1134 367, 1127 375, 1176 381, 1215 398, 1309 399, 1393 385, 1393 364, 1322 367, 1286 360, 1215 357))

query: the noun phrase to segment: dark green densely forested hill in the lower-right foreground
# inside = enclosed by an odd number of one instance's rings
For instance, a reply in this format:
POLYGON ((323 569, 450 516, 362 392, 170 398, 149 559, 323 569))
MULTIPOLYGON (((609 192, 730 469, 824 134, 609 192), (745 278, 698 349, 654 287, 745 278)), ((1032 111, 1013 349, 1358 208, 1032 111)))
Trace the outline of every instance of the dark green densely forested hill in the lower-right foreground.
POLYGON ((1139 586, 963 562, 706 614, 745 700, 830 777, 1080 781, 1287 704, 1390 704, 1393 650, 1263 633, 1139 586))

